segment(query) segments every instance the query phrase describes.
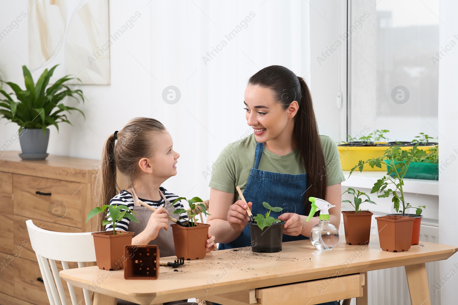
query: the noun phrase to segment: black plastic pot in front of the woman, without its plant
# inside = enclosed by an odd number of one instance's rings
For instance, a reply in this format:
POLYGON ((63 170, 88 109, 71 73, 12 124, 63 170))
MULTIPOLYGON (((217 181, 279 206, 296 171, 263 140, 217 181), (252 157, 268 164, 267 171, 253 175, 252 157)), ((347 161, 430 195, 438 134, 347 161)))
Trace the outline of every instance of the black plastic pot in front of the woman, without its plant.
POLYGON ((273 223, 261 230, 256 223, 248 223, 251 233, 251 251, 273 253, 282 251, 283 225, 286 221, 273 223))

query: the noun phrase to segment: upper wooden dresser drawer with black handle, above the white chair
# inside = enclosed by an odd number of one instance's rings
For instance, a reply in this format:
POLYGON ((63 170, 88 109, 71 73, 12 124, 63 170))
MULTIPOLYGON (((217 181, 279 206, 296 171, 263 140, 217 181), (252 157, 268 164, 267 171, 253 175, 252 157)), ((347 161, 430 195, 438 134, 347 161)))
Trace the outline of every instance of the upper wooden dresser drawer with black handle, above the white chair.
POLYGON ((86 184, 13 174, 13 213, 81 228, 86 184))

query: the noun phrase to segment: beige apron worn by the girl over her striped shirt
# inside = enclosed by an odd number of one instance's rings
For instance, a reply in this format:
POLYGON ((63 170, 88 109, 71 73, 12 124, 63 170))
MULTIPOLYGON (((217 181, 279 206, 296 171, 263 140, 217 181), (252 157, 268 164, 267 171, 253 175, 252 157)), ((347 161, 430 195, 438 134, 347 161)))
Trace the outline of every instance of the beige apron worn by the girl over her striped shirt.
MULTIPOLYGON (((135 237, 140 232, 145 230, 149 218, 151 217, 151 214, 153 214, 153 211, 138 203, 138 197, 133 187, 130 188, 130 192, 132 194, 132 198, 134 199, 134 207, 132 208, 132 210, 135 211, 135 217, 136 219, 138 219, 139 222, 130 221, 128 231, 134 232, 135 237)), ((161 194, 162 198, 164 198, 164 207, 169 212, 169 215, 172 216, 174 219, 178 219, 180 215, 172 214, 175 208, 172 206, 170 201, 167 198, 165 198, 164 193, 162 193, 161 190, 159 190, 159 193, 161 194)), ((173 224, 173 222, 169 220, 169 230, 166 231, 161 228, 159 230, 158 236, 148 243, 148 245, 158 246, 160 257, 175 256, 175 245, 173 241, 172 227, 170 227, 171 224, 173 224)))

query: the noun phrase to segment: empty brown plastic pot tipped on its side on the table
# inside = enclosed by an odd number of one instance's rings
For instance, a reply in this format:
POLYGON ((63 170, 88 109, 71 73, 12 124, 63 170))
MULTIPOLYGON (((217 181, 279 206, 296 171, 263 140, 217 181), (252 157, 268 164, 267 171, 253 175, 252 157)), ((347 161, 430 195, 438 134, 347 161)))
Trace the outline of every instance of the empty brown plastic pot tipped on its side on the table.
POLYGON ((124 279, 158 279, 159 248, 156 245, 124 246, 124 279))

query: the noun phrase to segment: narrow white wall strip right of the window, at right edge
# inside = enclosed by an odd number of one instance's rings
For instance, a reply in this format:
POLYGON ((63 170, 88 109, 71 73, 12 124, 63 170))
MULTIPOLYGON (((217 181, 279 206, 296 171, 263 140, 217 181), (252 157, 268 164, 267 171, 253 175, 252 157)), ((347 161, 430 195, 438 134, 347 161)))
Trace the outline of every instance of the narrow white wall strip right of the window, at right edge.
MULTIPOLYGON (((457 42, 458 20, 455 0, 440 1, 439 46, 453 39, 457 42)), ((456 188, 458 185, 458 47, 452 48, 439 62, 439 160, 446 169, 439 174, 439 242, 458 246, 457 226, 454 216, 458 214, 456 188)), ((442 304, 456 304, 458 298, 458 256, 454 254, 441 261, 442 304)), ((430 283, 431 285, 432 283, 430 283)), ((436 283, 434 283, 436 284, 436 283)))

